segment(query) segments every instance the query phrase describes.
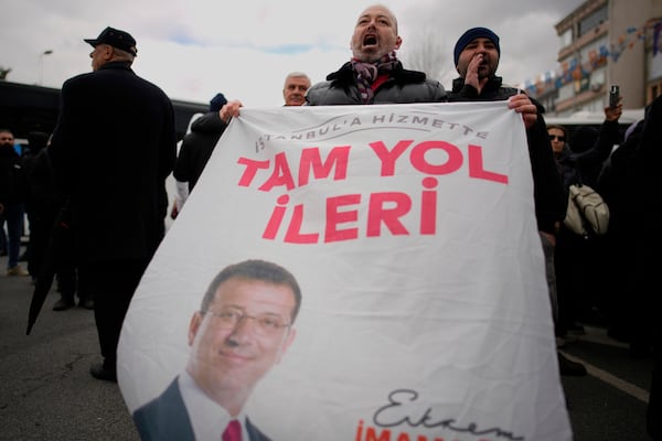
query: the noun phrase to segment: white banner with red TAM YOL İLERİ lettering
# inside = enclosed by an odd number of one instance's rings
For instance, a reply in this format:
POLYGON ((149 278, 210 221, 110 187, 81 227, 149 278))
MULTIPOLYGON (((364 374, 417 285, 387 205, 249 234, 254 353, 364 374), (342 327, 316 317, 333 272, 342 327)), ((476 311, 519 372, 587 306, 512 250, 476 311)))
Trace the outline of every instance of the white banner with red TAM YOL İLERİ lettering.
MULTIPOLYGON (((258 358, 250 333, 269 326, 287 341, 241 389, 244 440, 572 439, 526 138, 505 101, 242 109, 126 316, 129 410, 184 387, 188 411, 161 433, 218 440, 224 374, 183 373, 196 332, 232 320, 245 342, 210 334, 210 357, 232 343, 258 358), (297 279, 293 323, 239 305, 238 321, 214 310, 196 329, 212 279, 248 259, 297 279)), ((145 415, 142 433, 158 433, 145 415)))

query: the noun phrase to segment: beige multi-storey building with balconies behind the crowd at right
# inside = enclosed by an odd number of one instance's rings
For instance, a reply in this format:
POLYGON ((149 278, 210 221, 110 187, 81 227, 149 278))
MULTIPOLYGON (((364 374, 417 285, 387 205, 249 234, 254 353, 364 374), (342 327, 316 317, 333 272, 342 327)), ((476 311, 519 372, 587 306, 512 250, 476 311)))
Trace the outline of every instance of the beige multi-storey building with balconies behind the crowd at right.
POLYGON ((661 31, 662 0, 588 0, 556 24, 559 69, 527 89, 556 117, 602 114, 612 84, 642 109, 662 94, 661 31))

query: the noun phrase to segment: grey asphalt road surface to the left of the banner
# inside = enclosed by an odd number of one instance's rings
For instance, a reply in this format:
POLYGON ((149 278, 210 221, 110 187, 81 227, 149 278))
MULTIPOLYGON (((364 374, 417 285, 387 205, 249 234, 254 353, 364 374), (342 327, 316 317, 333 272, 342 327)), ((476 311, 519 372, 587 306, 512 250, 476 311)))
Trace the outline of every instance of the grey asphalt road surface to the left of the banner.
POLYGON ((30 335, 29 277, 6 277, 0 259, 0 440, 139 440, 114 383, 94 379, 99 362, 94 313, 52 311, 49 294, 30 335))

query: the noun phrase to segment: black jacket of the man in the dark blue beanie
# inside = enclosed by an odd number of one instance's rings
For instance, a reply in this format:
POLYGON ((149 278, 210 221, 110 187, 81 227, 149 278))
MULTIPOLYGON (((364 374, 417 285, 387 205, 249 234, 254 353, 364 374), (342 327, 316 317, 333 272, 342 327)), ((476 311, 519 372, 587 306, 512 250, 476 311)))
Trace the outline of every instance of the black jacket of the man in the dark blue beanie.
MULTIPOLYGON (((503 86, 503 80, 499 76, 490 78, 480 95, 474 87, 465 84, 465 78, 456 78, 452 82, 450 100, 501 101, 516 94, 517 89, 503 86)), ((554 224, 565 218, 568 200, 563 190, 549 137, 547 136, 547 126, 543 118, 545 108, 533 98, 531 100, 538 109, 537 121, 526 129, 528 158, 533 175, 535 217, 541 232, 554 234, 554 224)))

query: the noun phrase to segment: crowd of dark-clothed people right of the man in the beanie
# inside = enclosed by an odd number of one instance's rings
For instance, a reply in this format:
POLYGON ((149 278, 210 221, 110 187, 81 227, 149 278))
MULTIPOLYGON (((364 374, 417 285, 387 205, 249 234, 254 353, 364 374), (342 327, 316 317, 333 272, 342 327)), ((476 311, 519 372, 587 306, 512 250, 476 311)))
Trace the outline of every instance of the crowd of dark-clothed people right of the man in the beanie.
MULTIPOLYGON (((622 97, 605 107, 599 129, 547 126, 566 197, 570 185, 588 185, 609 208, 609 226, 598 235, 577 234, 558 223, 553 277, 557 292, 555 332, 560 346, 586 333, 585 325, 607 329, 628 344, 630 356, 652 358, 647 431, 662 437, 660 426, 660 344, 653 275, 660 268, 659 235, 650 215, 659 207, 653 195, 655 161, 660 160, 662 96, 645 108, 644 118, 622 132, 622 97), (656 110, 656 111, 655 111, 656 110)), ((568 202, 572 203, 572 202, 568 202)), ((562 363, 562 374, 564 365, 562 363)), ((570 362, 567 375, 586 375, 570 362)))

